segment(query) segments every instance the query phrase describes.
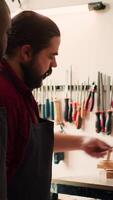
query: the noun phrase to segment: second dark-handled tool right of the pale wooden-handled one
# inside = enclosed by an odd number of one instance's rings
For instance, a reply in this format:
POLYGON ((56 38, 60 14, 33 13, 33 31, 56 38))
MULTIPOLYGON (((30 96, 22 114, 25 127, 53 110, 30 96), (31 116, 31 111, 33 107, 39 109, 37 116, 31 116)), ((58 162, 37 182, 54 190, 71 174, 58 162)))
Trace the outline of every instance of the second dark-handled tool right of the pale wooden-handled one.
POLYGON ((70 99, 69 99, 69 111, 68 111, 68 121, 72 122, 72 112, 73 112, 73 102, 72 102, 72 66, 70 67, 70 99))

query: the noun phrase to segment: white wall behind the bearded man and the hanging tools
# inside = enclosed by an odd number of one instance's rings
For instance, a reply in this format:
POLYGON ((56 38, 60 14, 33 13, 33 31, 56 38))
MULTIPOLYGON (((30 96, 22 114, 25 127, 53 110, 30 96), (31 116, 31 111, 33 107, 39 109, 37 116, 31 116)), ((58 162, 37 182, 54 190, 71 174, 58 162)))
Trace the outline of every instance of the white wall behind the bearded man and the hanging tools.
MULTIPOLYGON (((58 56, 58 68, 54 70, 52 79, 57 84, 64 84, 65 69, 73 67, 73 83, 77 80, 90 83, 97 81, 100 70, 113 76, 113 0, 107 0, 109 8, 105 11, 88 11, 84 6, 73 7, 73 11, 54 10, 45 13, 50 16, 61 30, 61 46, 58 56), (57 78, 56 78, 57 77, 57 78)), ((95 109, 94 109, 95 111, 95 109)), ((86 120, 85 129, 77 131, 68 127, 72 134, 97 136, 95 132, 95 113, 86 120)), ((99 135, 101 137, 101 135, 99 135)), ((113 142, 111 136, 102 137, 113 142)), ((54 176, 96 173, 99 160, 93 159, 83 152, 68 152, 66 159, 59 165, 53 165, 54 176)))

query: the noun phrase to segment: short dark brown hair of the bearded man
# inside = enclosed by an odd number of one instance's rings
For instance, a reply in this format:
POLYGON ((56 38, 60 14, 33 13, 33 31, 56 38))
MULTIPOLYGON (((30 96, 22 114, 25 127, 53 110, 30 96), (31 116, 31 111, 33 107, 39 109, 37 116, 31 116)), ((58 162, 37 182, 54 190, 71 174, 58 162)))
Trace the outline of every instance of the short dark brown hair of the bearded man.
POLYGON ((48 47, 54 36, 60 36, 60 31, 50 18, 33 11, 23 11, 12 19, 6 54, 13 55, 17 47, 25 44, 31 45, 35 54, 48 47))

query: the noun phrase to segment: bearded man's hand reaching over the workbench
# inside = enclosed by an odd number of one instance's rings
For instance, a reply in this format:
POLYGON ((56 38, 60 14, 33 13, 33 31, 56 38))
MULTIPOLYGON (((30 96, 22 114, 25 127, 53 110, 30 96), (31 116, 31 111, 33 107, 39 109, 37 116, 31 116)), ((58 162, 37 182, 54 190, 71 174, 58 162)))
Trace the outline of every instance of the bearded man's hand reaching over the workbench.
POLYGON ((90 138, 84 141, 82 150, 92 157, 100 158, 104 157, 108 151, 112 151, 112 147, 97 138, 90 138))

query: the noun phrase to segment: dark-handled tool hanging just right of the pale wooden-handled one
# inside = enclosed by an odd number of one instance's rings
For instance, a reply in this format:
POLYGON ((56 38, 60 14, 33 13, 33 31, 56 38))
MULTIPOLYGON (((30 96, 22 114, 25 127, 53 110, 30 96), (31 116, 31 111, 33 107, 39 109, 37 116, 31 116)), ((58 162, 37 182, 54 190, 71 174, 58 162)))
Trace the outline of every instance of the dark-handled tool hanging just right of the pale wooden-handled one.
POLYGON ((68 98, 68 70, 66 70, 65 99, 64 99, 64 120, 68 122, 69 98, 68 98))

